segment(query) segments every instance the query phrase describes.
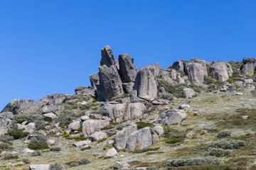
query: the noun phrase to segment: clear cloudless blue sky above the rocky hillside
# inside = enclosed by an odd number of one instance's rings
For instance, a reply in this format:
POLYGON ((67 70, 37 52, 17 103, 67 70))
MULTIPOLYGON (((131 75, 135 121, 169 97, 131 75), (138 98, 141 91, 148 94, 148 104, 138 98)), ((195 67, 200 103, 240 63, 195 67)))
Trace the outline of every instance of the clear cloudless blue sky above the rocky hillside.
POLYGON ((100 50, 137 68, 191 57, 256 57, 254 0, 0 0, 0 110, 90 86, 100 50))

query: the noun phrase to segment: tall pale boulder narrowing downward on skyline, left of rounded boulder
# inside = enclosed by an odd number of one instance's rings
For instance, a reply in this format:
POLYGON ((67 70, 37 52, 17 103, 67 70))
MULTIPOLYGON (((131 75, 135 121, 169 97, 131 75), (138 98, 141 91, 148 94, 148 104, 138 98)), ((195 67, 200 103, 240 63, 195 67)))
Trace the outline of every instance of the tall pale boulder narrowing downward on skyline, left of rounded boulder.
POLYGON ((206 62, 191 59, 191 61, 185 63, 185 72, 193 84, 203 85, 204 76, 207 76, 206 62))

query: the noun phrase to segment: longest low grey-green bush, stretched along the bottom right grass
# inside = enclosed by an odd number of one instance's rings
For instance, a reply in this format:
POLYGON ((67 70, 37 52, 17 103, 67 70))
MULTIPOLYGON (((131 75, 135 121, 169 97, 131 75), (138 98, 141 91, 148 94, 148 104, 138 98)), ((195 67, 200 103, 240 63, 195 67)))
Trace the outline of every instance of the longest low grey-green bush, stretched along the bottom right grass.
POLYGON ((165 166, 193 166, 193 165, 206 165, 206 164, 220 164, 216 157, 197 157, 191 159, 172 159, 166 161, 165 166))

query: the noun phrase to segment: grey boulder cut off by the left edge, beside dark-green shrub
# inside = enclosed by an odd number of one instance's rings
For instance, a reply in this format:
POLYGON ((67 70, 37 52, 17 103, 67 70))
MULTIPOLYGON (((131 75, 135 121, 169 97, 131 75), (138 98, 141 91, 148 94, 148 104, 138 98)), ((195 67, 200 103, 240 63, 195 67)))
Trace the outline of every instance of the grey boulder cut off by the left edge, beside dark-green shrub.
POLYGON ((11 112, 0 113, 0 135, 4 135, 10 128, 12 128, 11 119, 14 114, 11 112))

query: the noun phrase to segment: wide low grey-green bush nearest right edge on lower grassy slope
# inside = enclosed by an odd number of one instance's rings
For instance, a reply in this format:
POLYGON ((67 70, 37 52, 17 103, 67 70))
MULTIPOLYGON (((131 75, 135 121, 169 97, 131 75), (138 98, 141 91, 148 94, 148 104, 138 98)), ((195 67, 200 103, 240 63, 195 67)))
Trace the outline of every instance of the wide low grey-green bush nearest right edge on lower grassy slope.
POLYGON ((239 147, 244 147, 244 146, 245 146, 245 142, 242 140, 222 139, 222 140, 211 142, 207 148, 238 149, 239 147))

